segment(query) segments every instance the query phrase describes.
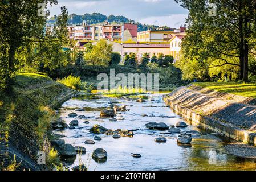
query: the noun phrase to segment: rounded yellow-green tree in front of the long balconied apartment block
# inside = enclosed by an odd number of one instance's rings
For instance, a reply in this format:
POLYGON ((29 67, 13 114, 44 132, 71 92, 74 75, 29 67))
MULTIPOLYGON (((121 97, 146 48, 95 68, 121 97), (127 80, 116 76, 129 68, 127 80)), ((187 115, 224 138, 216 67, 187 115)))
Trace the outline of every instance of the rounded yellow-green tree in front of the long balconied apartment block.
POLYGON ((84 59, 89 65, 103 65, 108 66, 111 61, 111 53, 113 52, 113 45, 108 44, 106 40, 101 39, 92 48, 91 52, 86 53, 84 59))

